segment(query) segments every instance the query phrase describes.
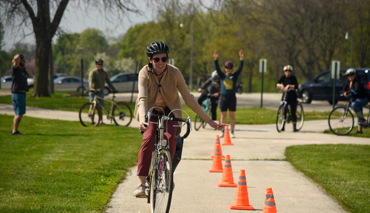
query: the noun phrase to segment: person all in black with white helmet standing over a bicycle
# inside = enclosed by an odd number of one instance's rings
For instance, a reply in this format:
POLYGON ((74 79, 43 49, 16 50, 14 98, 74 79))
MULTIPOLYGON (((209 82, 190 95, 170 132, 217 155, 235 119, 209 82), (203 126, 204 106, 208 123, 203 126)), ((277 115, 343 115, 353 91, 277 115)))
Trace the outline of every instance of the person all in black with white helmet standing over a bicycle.
MULTIPOLYGON (((292 75, 293 66, 286 65, 284 66, 284 74, 280 77, 280 79, 276 83, 276 87, 280 87, 281 90, 287 92, 289 88, 298 89, 298 82, 295 76, 292 75)), ((297 124, 297 93, 295 90, 290 90, 287 92, 287 104, 290 106, 290 112, 292 113, 292 121, 293 121, 293 132, 297 132, 299 130, 296 129, 297 124)), ((285 131, 285 127, 282 128, 281 131, 285 131)))

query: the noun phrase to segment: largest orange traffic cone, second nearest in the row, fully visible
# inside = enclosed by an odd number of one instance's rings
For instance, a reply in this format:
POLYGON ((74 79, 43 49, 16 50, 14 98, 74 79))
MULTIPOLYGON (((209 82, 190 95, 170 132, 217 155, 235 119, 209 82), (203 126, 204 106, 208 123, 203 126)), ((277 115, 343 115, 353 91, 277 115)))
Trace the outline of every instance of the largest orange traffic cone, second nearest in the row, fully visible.
POLYGON ((245 179, 245 170, 240 169, 238 186, 236 186, 234 204, 229 204, 230 209, 253 210, 249 205, 247 181, 245 179))

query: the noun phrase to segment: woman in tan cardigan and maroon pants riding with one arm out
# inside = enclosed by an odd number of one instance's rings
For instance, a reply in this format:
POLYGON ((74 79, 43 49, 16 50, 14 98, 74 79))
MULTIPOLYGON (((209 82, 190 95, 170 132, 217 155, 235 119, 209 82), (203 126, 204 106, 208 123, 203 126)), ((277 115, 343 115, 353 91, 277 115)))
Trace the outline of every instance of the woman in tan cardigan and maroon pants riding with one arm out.
MULTIPOLYGON (((181 72, 175 66, 167 64, 169 47, 165 42, 153 42, 147 47, 148 65, 139 72, 138 99, 135 104, 135 117, 140 123, 139 130, 144 131, 141 147, 138 156, 138 186, 132 193, 133 196, 145 195, 145 179, 148 176, 152 151, 155 143, 157 126, 148 126, 145 123, 145 115, 154 106, 164 109, 165 114, 174 109, 181 109, 181 102, 177 90, 181 93, 185 104, 206 121, 212 128, 222 130, 223 126, 218 121, 211 120, 211 117, 199 106, 194 96, 190 94, 188 86, 181 72)), ((155 108, 152 114, 157 114, 159 108, 155 108)), ((182 117, 182 111, 173 112, 175 117, 182 117)), ((155 121, 151 119, 151 121, 155 121)), ((172 159, 176 149, 176 136, 180 134, 181 127, 176 121, 164 123, 165 140, 169 143, 169 151, 172 159), (167 138, 168 137, 168 138, 167 138)))

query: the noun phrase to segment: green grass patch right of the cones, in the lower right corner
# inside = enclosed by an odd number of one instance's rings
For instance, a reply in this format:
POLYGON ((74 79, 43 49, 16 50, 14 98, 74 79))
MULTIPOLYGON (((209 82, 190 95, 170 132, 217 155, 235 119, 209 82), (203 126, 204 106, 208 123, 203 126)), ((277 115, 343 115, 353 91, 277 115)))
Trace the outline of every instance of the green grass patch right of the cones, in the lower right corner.
POLYGON ((370 212, 370 145, 296 145, 287 147, 285 155, 345 210, 370 212))

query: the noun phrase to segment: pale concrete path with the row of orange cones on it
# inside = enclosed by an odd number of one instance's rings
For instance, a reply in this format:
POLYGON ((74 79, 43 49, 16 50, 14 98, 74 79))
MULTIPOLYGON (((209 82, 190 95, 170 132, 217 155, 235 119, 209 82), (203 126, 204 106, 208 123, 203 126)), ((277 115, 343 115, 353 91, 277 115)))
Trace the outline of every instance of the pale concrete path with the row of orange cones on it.
MULTIPOLYGON (((0 114, 14 115, 9 104, 0 104, 0 114)), ((78 113, 27 107, 26 116, 60 120, 78 120, 78 113)), ((130 125, 137 128, 137 121, 130 125)), ((298 133, 293 133, 291 124, 286 131, 277 133, 275 124, 237 125, 233 146, 222 146, 222 154, 231 155, 234 182, 238 181, 240 169, 246 171, 249 203, 256 212, 262 212, 265 189, 272 188, 277 212, 280 213, 342 213, 345 212, 335 200, 319 186, 297 172, 287 161, 266 161, 284 159, 285 148, 300 144, 356 143, 370 145, 369 138, 356 138, 323 134, 328 128, 326 120, 305 121, 298 133), (251 160, 251 159, 259 159, 251 160)), ((184 141, 182 160, 175 174, 175 190, 170 212, 176 213, 224 213, 242 212, 231 210, 236 188, 221 188, 222 173, 210 173, 215 136, 219 131, 210 128, 192 131, 184 141)), ((221 139, 222 143, 222 139, 221 139)), ((148 212, 146 199, 135 198, 132 191, 137 186, 137 168, 128 172, 127 178, 118 185, 108 203, 108 213, 148 212)), ((245 212, 245 211, 244 211, 245 212)))

